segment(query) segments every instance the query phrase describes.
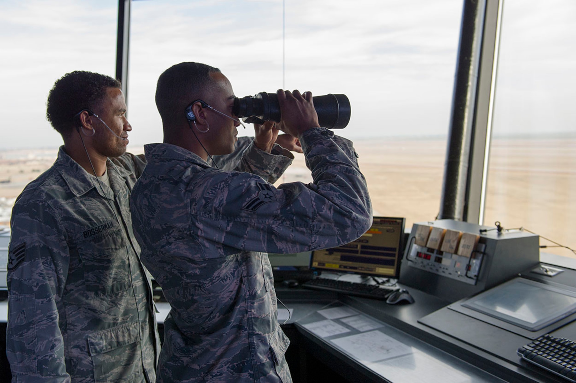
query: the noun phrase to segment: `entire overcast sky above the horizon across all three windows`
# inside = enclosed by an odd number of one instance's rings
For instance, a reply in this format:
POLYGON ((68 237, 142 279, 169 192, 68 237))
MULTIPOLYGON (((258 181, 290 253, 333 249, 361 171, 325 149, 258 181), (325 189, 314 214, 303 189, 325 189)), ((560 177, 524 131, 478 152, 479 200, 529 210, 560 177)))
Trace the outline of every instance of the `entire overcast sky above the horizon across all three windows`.
MULTIPOLYGON (((505 3, 495 108, 503 134, 569 132, 576 122, 576 2, 542 3, 505 3)), ((448 133, 462 0, 284 4, 283 13, 282 0, 132 1, 131 145, 162 140, 156 81, 183 61, 220 68, 238 97, 282 87, 346 94, 351 120, 338 133, 351 139, 448 133)), ((62 142, 46 121, 48 91, 73 70, 115 75, 117 7, 0 0, 0 149, 62 142)))

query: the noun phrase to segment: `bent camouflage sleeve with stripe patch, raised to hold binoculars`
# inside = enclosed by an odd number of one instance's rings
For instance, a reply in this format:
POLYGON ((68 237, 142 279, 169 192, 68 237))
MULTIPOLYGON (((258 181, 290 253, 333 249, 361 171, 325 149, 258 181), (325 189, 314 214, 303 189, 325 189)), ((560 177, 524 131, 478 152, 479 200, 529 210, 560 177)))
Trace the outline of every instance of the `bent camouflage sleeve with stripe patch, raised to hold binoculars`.
POLYGON ((372 204, 351 141, 310 131, 301 139, 309 185, 275 188, 247 173, 216 171, 195 182, 190 211, 204 246, 300 252, 351 242, 370 228, 372 204))

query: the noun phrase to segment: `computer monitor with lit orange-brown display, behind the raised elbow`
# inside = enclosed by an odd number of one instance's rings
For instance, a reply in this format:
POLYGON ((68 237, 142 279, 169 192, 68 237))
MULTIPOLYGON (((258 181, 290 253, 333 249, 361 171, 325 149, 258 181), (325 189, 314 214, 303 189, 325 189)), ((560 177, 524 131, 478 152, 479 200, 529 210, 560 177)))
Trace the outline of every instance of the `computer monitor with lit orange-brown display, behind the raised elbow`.
POLYGON ((404 224, 398 217, 374 217, 372 227, 354 242, 312 252, 310 269, 398 278, 404 224))

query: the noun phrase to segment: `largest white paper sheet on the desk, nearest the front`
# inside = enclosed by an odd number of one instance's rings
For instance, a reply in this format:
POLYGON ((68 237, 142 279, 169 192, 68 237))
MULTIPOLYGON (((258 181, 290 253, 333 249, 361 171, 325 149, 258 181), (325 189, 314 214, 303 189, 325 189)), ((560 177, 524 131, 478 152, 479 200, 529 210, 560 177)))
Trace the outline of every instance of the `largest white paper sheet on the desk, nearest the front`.
POLYGON ((376 362, 412 353, 411 347, 378 330, 344 336, 330 342, 361 362, 376 362))

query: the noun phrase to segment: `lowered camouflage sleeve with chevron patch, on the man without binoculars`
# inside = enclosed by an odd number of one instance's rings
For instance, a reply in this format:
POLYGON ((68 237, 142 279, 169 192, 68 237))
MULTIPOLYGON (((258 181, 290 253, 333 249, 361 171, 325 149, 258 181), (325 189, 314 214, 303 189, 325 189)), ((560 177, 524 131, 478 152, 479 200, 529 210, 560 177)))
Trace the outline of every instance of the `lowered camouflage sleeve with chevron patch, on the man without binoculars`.
POLYGON ((59 217, 45 200, 20 199, 11 219, 6 355, 18 381, 69 381, 56 301, 69 250, 59 217))

